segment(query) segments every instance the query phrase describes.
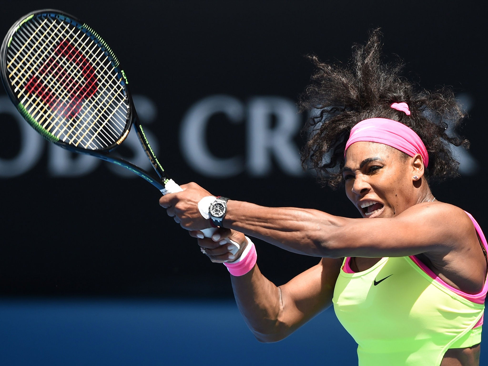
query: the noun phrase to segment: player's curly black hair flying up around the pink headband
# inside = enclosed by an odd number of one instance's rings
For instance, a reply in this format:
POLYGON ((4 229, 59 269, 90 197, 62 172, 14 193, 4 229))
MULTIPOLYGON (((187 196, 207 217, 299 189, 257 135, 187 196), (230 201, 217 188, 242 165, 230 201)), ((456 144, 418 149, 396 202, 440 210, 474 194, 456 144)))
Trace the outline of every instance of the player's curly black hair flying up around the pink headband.
POLYGON ((381 36, 375 29, 365 46, 354 45, 346 67, 308 56, 316 70, 299 102, 302 112, 313 111, 304 129, 308 141, 302 165, 314 169, 319 180, 332 188, 343 182, 344 149, 351 128, 368 118, 401 122, 419 135, 429 155, 429 183, 457 176, 459 163, 450 144, 469 147, 468 140, 448 133, 465 117, 453 91, 447 87, 435 92, 415 90, 414 83, 401 76, 402 62, 381 62, 381 36), (393 102, 406 102, 411 114, 391 108, 393 102))

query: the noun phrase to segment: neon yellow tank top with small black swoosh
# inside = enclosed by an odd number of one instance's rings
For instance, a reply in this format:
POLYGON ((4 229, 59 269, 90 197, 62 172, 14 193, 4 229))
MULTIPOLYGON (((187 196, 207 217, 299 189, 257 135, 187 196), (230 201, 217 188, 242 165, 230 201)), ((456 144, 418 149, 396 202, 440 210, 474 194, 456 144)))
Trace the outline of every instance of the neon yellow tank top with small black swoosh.
POLYGON ((382 258, 357 273, 344 271, 346 260, 332 302, 358 344, 359 366, 438 366, 447 349, 481 342, 482 327, 474 326, 484 303, 450 290, 410 257, 382 258))

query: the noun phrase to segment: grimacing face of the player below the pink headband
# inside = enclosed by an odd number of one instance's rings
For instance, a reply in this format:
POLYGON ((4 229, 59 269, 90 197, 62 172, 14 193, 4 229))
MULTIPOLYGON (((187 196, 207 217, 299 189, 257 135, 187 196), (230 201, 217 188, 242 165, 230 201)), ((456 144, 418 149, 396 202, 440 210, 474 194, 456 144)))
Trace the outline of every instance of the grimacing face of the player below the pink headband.
POLYGON ((394 217, 417 203, 413 176, 423 175, 418 156, 376 142, 355 142, 346 151, 343 169, 347 198, 362 217, 394 217))

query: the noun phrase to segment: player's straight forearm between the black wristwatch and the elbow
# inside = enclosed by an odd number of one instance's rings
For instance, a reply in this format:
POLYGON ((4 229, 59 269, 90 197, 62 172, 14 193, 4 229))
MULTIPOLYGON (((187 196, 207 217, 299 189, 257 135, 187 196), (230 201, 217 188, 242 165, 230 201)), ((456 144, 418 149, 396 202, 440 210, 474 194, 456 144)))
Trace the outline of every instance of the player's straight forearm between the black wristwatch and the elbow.
POLYGON ((229 200, 223 224, 291 252, 334 257, 334 243, 346 233, 350 220, 313 209, 229 200))

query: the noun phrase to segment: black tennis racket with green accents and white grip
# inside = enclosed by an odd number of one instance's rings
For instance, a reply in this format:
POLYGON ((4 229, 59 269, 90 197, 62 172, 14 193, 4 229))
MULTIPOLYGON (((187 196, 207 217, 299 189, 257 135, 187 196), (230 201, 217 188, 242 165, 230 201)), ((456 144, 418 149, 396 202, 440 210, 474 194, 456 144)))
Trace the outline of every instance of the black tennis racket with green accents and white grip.
MULTIPOLYGON (((182 191, 147 141, 119 60, 88 25, 59 10, 29 13, 8 31, 0 58, 8 96, 49 142, 123 166, 163 195, 182 191), (157 175, 110 154, 132 125, 157 175)), ((202 231, 210 237, 215 229, 202 231)))

